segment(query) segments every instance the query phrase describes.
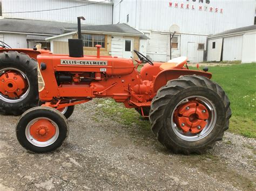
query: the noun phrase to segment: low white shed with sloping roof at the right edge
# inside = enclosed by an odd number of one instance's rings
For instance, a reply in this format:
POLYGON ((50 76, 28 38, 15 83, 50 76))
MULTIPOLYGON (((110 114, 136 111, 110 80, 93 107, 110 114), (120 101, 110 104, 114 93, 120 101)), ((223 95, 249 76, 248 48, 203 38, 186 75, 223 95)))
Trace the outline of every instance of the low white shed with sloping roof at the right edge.
POLYGON ((232 29, 208 38, 207 61, 256 62, 256 25, 232 29))

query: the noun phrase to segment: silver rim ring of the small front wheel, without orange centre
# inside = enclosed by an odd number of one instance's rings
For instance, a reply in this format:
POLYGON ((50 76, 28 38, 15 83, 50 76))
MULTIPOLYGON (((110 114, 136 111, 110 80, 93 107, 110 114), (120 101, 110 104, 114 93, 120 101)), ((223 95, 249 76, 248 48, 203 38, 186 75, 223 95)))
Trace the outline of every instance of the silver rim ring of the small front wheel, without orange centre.
POLYGON ((29 124, 26 126, 26 129, 25 129, 25 135, 26 135, 26 139, 32 144, 32 145, 35 145, 37 147, 47 147, 47 146, 50 146, 52 145, 59 137, 59 127, 58 125, 56 124, 56 122, 52 121, 51 119, 49 118, 36 118, 36 119, 33 119, 29 122, 29 124), (33 138, 33 136, 30 134, 30 127, 35 124, 35 122, 37 122, 38 120, 40 119, 46 119, 46 120, 49 120, 53 126, 55 126, 56 128, 56 132, 55 132, 55 135, 53 135, 53 137, 51 139, 49 139, 48 141, 37 141, 35 138, 33 138))

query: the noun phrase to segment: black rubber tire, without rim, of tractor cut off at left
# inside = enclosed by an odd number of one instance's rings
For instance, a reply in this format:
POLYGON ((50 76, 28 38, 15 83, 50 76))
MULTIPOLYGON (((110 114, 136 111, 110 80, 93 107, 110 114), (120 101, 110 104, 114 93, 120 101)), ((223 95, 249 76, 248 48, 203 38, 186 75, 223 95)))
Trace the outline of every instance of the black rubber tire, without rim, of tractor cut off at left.
POLYGON ((1 70, 13 68, 22 71, 29 81, 30 88, 23 100, 12 103, 10 99, 0 93, 0 113, 20 115, 38 103, 37 84, 37 62, 25 53, 15 51, 0 53, 0 74, 1 70))

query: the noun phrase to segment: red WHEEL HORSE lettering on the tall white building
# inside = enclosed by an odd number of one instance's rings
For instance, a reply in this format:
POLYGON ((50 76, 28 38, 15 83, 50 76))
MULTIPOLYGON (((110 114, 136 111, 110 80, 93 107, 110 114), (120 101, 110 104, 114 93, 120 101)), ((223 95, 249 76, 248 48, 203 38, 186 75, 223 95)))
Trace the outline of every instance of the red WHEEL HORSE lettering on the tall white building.
MULTIPOLYGON (((206 3, 210 4, 210 0, 192 0, 192 2, 199 2, 199 3, 206 3)), ((191 10, 199 10, 199 11, 209 11, 209 12, 219 12, 223 13, 222 8, 215 8, 213 6, 208 6, 208 5, 200 5, 196 6, 194 4, 189 4, 188 0, 187 3, 177 3, 177 2, 169 2, 169 6, 173 8, 180 8, 180 9, 191 9, 191 10)))

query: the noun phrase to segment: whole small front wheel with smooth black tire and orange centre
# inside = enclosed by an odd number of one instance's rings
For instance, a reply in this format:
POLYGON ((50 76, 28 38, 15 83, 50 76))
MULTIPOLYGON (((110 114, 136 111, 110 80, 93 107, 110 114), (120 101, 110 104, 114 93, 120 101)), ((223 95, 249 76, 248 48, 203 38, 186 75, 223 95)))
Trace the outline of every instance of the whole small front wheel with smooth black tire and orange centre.
POLYGON ((19 143, 35 153, 51 152, 68 137, 68 122, 51 107, 34 107, 23 113, 16 125, 19 143))

